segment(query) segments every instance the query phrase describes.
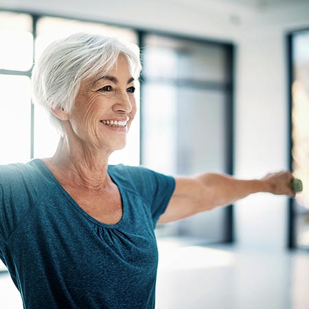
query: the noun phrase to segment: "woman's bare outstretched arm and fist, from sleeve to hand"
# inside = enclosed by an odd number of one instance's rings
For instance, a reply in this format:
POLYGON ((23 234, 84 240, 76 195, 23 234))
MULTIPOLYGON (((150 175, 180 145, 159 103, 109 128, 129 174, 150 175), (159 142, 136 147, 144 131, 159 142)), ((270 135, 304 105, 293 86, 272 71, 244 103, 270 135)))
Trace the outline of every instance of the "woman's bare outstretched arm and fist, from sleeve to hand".
POLYGON ((295 197, 290 188, 293 175, 288 172, 267 174, 262 179, 241 180, 225 174, 207 173, 176 177, 176 187, 159 224, 187 218, 201 211, 231 205, 258 192, 295 197))

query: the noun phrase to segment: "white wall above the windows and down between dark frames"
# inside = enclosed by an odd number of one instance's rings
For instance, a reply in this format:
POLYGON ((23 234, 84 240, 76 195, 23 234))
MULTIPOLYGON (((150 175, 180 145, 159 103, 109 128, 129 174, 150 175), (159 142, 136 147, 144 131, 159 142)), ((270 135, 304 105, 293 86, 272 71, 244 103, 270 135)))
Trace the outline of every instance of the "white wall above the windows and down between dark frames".
MULTIPOLYGON (((75 16, 236 43, 235 174, 249 179, 288 167, 285 34, 309 27, 308 1, 269 10, 219 1, 0 0, 0 8, 75 16)), ((256 194, 236 203, 240 246, 282 250, 288 199, 256 194)))

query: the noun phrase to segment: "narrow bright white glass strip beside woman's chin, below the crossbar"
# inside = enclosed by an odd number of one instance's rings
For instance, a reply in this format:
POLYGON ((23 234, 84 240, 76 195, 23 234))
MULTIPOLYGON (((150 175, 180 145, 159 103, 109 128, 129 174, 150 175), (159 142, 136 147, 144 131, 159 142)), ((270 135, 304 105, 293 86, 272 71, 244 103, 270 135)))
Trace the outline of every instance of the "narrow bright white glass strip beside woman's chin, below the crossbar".
POLYGON ((142 96, 143 165, 157 172, 174 174, 177 171, 177 89, 149 82, 144 85, 142 96))

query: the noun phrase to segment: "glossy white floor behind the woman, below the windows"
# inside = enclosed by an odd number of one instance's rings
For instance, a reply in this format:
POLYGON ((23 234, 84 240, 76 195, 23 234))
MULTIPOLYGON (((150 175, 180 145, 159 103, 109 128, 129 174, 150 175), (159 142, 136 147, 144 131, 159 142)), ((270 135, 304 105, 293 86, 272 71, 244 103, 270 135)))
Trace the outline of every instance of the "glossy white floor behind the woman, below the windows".
MULTIPOLYGON (((309 252, 159 240, 157 309, 308 309, 309 252)), ((7 273, 0 308, 20 309, 7 273)))

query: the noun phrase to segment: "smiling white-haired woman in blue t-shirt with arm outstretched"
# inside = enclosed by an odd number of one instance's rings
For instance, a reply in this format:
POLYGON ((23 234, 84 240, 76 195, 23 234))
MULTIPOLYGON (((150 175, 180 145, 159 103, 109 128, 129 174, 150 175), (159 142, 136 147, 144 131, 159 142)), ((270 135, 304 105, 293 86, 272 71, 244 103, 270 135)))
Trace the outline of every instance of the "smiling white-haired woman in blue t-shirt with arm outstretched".
POLYGON ((255 192, 295 196, 290 172, 244 181, 108 165, 126 145, 139 69, 125 45, 91 34, 52 43, 34 66, 34 102, 58 148, 0 167, 0 257, 24 308, 155 308, 157 222, 255 192))

